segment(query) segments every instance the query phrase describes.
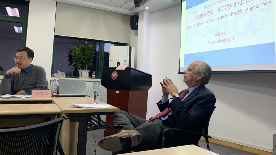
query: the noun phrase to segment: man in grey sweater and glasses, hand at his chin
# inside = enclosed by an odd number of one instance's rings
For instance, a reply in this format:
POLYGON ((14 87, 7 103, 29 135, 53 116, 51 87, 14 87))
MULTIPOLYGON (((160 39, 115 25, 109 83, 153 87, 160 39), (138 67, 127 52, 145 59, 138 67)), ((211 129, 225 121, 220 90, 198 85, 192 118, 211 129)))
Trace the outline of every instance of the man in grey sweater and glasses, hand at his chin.
POLYGON ((15 67, 8 69, 0 83, 0 95, 31 94, 32 90, 47 90, 45 70, 31 62, 34 52, 28 47, 16 51, 15 67))

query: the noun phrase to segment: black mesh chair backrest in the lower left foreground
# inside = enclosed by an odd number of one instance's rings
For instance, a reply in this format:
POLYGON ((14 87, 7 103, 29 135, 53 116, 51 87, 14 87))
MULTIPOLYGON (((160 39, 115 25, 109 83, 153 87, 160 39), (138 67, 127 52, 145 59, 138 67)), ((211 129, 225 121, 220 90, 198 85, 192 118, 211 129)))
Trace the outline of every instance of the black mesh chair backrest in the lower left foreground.
POLYGON ((63 118, 12 129, 0 129, 1 155, 56 155, 63 118))

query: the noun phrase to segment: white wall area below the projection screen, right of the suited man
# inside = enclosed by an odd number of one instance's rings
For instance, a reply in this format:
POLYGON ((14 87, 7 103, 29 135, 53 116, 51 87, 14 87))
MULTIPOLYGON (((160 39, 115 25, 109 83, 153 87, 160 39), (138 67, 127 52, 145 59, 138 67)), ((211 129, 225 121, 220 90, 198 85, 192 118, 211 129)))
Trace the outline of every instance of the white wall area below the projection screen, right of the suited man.
POLYGON ((216 96, 209 134, 272 152, 276 133, 275 73, 213 74, 207 87, 216 96))

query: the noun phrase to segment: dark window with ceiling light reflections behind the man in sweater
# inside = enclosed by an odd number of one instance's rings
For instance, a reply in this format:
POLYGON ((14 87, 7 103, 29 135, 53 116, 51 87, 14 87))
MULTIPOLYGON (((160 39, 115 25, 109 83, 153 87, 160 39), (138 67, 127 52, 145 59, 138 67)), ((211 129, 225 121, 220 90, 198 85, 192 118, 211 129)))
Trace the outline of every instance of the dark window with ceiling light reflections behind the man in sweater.
POLYGON ((15 66, 16 51, 25 47, 28 7, 28 1, 0 1, 0 75, 15 66))

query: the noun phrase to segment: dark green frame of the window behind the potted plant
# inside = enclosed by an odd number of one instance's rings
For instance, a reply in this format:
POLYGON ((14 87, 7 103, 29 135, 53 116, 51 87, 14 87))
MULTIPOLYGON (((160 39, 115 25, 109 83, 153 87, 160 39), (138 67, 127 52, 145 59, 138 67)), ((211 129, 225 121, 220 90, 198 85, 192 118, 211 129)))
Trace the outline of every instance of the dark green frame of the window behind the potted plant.
MULTIPOLYGON (((51 77, 53 76, 53 70, 54 70, 54 61, 55 61, 55 39, 56 37, 60 38, 69 38, 69 39, 79 39, 79 40, 91 40, 95 42, 99 42, 99 69, 98 69, 98 76, 95 77, 95 79, 101 79, 103 69, 104 67, 104 43, 112 43, 112 44, 122 44, 122 46, 126 46, 126 43, 120 43, 120 42, 110 42, 110 41, 104 41, 104 40, 94 40, 94 39, 88 39, 88 38, 78 38, 78 37, 71 37, 71 36, 59 36, 59 35, 54 35, 54 42, 53 42, 53 56, 52 56, 52 67, 51 67, 51 77)), ((79 76, 68 76, 66 75, 65 78, 78 78, 79 76)), ((91 76, 89 76, 92 78, 91 76)))

